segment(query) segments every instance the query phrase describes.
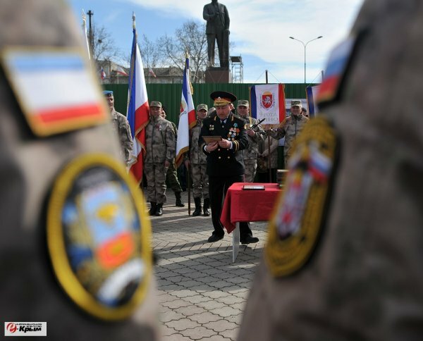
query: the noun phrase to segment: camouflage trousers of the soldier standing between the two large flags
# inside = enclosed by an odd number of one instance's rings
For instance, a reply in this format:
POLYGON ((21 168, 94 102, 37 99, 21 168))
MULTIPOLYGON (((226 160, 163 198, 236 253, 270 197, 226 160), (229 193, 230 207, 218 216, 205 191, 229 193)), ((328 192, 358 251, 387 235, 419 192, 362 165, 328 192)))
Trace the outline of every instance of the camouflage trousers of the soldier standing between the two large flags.
POLYGON ((156 202, 157 204, 166 202, 166 171, 164 163, 145 163, 147 202, 156 202))

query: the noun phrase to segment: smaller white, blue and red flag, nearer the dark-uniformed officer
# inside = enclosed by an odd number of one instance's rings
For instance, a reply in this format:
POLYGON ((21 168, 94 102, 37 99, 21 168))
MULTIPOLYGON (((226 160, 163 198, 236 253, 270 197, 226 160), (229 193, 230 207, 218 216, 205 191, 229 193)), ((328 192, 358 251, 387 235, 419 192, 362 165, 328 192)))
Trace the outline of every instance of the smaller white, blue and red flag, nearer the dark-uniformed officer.
POLYGON ((180 166, 183 160, 183 154, 190 149, 190 129, 196 124, 197 120, 195 118, 190 83, 190 59, 186 58, 185 70, 183 72, 182 98, 180 100, 178 140, 176 141, 176 167, 180 166))

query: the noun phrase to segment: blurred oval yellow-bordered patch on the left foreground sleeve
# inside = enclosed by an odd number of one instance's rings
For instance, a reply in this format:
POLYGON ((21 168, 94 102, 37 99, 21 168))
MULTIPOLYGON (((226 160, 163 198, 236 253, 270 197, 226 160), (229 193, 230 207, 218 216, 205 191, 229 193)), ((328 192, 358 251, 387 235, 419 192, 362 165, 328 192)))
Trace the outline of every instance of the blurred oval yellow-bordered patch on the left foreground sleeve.
POLYGON ((130 316, 152 273, 145 201, 125 168, 101 154, 71 161, 47 206, 56 278, 80 308, 104 320, 130 316))

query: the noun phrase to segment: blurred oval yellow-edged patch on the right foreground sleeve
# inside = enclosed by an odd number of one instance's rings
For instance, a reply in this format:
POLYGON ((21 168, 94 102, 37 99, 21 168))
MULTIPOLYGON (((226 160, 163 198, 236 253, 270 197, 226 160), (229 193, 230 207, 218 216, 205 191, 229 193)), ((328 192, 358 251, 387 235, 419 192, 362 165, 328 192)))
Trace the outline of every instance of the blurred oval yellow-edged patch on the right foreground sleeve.
POLYGON ((275 277, 295 273, 312 256, 329 204, 336 140, 335 130, 323 116, 310 120, 297 138, 264 250, 275 277))

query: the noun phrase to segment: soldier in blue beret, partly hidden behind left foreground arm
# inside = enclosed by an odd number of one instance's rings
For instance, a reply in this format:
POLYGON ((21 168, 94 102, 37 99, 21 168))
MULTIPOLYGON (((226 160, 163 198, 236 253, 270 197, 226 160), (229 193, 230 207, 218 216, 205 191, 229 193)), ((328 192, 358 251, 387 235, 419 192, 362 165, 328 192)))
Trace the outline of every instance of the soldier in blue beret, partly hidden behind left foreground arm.
POLYGON ((105 90, 103 93, 106 97, 107 104, 109 104, 111 122, 113 123, 114 131, 121 141, 121 155, 123 156, 123 159, 125 159, 126 164, 130 165, 132 160, 133 139, 130 135, 130 126, 128 120, 124 115, 118 113, 114 109, 113 91, 105 90))

